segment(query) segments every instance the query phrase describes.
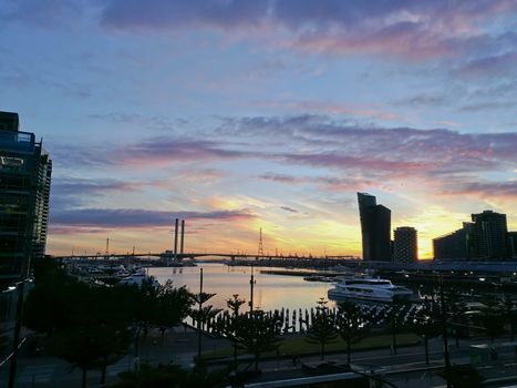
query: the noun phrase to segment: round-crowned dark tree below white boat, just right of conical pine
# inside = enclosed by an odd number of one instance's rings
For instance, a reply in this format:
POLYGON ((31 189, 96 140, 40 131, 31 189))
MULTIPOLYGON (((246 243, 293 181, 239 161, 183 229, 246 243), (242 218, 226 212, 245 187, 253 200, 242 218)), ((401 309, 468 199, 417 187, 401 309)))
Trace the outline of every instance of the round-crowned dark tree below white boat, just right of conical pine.
POLYGON ((361 338, 368 330, 362 325, 362 317, 361 307, 355 303, 344 300, 338 305, 335 324, 339 335, 347 344, 347 359, 349 364, 352 343, 361 338))

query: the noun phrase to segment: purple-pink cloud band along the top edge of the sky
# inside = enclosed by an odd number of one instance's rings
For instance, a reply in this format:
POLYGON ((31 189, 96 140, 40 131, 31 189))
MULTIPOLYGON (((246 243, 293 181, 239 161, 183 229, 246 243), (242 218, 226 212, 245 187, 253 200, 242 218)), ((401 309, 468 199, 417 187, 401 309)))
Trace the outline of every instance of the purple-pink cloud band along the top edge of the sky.
POLYGON ((516 11, 513 0, 107 0, 101 23, 128 31, 208 28, 262 34, 277 44, 327 53, 384 53, 412 60, 456 57, 496 43, 485 24, 516 11), (272 31, 272 32, 271 32, 272 31))

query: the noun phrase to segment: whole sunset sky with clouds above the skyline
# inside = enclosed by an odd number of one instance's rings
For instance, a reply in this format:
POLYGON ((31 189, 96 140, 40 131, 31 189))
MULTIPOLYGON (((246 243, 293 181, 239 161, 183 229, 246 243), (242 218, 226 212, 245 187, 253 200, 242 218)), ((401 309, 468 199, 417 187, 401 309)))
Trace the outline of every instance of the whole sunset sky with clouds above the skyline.
POLYGON ((517 229, 515 0, 0 0, 0 110, 53 160, 48 253, 361 255, 517 229))

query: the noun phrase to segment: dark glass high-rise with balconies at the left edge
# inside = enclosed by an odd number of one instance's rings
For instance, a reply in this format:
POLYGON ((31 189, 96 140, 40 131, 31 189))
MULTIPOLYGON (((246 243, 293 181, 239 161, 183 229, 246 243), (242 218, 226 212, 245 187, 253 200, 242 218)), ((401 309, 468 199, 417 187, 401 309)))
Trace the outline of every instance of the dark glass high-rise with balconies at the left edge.
POLYGON ((17 113, 0 112, 0 279, 28 273, 45 252, 52 161, 17 113))

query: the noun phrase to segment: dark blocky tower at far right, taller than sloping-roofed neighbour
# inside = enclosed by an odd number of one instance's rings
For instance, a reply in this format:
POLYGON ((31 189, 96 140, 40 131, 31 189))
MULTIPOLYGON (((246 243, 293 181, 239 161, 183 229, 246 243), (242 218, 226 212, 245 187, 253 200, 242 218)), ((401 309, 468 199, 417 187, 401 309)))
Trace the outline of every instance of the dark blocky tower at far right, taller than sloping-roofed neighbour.
POLYGON ((508 258, 506 214, 484 211, 473 214, 474 256, 479 259, 508 258))

